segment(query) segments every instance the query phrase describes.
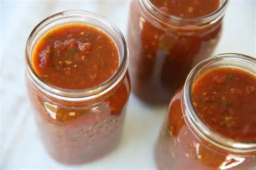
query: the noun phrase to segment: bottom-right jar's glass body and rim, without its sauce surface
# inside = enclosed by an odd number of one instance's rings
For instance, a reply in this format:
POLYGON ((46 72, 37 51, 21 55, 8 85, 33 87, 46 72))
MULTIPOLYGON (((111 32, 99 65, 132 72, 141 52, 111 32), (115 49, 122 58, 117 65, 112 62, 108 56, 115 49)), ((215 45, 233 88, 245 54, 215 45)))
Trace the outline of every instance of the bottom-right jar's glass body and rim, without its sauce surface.
POLYGON ((191 102, 193 83, 207 70, 235 67, 256 74, 256 60, 220 54, 200 62, 173 96, 156 145, 159 169, 247 169, 256 165, 256 141, 241 143, 221 136, 198 116, 191 102))

